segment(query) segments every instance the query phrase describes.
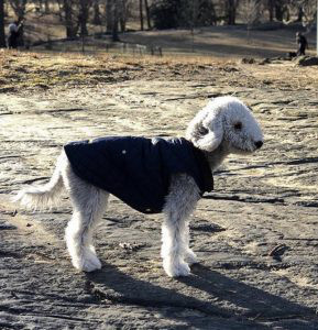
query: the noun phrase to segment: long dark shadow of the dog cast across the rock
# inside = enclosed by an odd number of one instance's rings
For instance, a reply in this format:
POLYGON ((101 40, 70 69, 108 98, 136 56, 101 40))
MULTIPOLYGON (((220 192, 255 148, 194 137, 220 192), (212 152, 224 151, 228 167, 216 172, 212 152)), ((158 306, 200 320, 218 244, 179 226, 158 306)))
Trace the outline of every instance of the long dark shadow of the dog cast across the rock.
POLYGON ((162 278, 152 283, 134 278, 108 264, 99 272, 87 274, 87 279, 90 293, 100 301, 156 308, 163 317, 183 320, 190 327, 204 327, 207 317, 221 318, 224 322, 226 319, 235 322, 233 317, 237 317, 237 321, 245 319, 246 326, 263 329, 261 320, 290 316, 315 319, 318 326, 314 309, 231 279, 202 265, 193 266, 189 277, 169 279, 163 274, 162 278), (184 310, 199 312, 202 317, 193 317, 190 312, 182 312, 184 310))

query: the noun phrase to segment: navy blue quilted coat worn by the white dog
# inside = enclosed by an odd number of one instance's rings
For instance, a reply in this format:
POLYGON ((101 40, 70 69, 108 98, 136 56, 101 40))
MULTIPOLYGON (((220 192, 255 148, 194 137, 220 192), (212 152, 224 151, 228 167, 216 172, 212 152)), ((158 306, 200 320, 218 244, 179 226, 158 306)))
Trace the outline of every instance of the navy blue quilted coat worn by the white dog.
POLYGON ((191 176, 211 191, 213 178, 204 153, 185 139, 108 136, 64 146, 77 176, 143 213, 160 213, 174 174, 191 176))

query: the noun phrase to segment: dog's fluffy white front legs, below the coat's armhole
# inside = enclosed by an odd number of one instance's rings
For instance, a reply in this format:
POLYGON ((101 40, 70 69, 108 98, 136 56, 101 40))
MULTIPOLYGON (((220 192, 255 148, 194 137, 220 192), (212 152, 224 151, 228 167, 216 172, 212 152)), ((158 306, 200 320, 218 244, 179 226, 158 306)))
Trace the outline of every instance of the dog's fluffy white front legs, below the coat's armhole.
POLYGON ((186 175, 173 178, 163 210, 165 220, 162 227, 163 266, 171 277, 189 275, 187 262, 196 262, 196 255, 189 249, 188 217, 198 199, 198 187, 193 178, 186 175))

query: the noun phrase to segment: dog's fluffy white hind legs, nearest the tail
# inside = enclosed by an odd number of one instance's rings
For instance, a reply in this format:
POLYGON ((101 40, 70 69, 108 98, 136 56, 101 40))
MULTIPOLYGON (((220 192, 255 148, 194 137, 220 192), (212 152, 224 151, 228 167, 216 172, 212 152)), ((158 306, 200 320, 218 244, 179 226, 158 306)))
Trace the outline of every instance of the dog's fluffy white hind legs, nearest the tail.
POLYGON ((65 231, 72 263, 79 271, 99 270, 101 263, 92 245, 92 232, 106 210, 109 194, 81 180, 72 170, 66 187, 74 207, 65 231))

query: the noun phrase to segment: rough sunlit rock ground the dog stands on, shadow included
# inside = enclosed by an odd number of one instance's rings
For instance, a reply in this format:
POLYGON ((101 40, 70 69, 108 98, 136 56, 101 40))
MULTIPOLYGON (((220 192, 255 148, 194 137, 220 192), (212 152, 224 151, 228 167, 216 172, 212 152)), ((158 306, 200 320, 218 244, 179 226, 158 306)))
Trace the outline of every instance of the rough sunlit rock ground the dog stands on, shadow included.
POLYGON ((261 79, 259 68, 207 70, 0 94, 1 329, 318 328, 317 89, 261 79), (37 213, 10 202, 50 177, 64 143, 182 135, 209 97, 228 94, 252 107, 265 145, 230 157, 200 200, 191 245, 201 262, 190 277, 164 274, 160 216, 112 199, 97 234, 103 267, 86 275, 65 251, 66 197, 37 213))

